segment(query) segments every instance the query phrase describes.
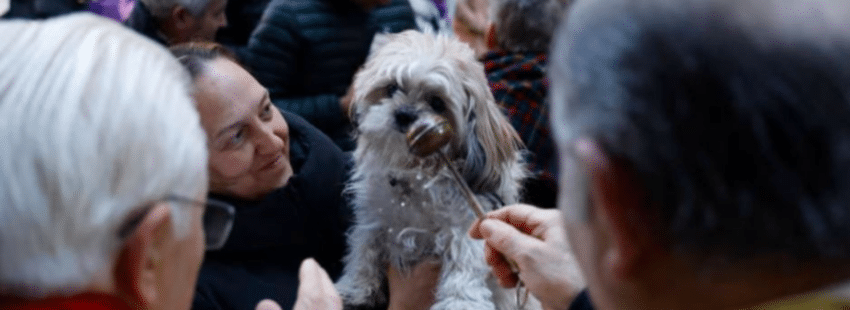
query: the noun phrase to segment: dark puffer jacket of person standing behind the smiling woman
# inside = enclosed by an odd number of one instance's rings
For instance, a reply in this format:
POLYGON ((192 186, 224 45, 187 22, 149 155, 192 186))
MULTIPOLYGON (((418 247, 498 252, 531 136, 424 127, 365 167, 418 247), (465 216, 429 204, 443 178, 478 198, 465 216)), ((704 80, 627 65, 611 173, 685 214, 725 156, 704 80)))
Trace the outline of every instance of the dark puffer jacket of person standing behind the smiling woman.
POLYGON ((372 38, 415 27, 408 0, 273 0, 240 57, 276 106, 351 150, 343 97, 372 38))

